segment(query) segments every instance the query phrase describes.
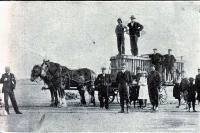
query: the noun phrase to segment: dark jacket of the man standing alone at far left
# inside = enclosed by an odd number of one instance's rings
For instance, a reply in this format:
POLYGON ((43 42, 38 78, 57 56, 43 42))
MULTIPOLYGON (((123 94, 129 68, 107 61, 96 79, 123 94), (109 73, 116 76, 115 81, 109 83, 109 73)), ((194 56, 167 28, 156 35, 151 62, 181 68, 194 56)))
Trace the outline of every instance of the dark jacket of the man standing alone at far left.
POLYGON ((7 73, 3 74, 0 79, 0 83, 3 83, 2 92, 12 92, 15 89, 16 86, 16 80, 14 74, 10 73, 8 75, 7 73), (7 79, 5 81, 5 79, 7 79))

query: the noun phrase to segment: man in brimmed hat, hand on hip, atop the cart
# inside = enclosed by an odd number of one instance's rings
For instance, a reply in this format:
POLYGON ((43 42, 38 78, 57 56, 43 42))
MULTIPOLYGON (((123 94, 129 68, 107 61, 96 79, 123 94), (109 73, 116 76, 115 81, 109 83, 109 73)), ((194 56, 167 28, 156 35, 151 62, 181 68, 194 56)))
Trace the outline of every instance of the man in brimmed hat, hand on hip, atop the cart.
POLYGON ((134 56, 138 55, 138 46, 137 46, 137 41, 138 37, 140 37, 140 31, 143 29, 143 26, 135 22, 134 20, 136 19, 133 15, 130 17, 131 22, 128 23, 129 27, 129 36, 130 36, 130 44, 131 44, 131 53, 134 56))

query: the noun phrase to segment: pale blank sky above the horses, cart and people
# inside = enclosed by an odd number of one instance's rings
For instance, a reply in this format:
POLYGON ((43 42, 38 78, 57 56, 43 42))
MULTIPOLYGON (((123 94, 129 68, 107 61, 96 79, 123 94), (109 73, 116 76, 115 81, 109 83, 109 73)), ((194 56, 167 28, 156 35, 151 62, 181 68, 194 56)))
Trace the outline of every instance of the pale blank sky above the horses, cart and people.
MULTIPOLYGON (((18 79, 30 78, 44 58, 69 68, 100 72, 115 56, 115 26, 134 15, 144 26, 139 54, 157 48, 183 56, 188 76, 200 67, 200 2, 0 2, 0 74, 9 65, 18 79), (95 41, 95 44, 93 44, 95 41)), ((125 35, 130 55, 129 36, 125 35)))

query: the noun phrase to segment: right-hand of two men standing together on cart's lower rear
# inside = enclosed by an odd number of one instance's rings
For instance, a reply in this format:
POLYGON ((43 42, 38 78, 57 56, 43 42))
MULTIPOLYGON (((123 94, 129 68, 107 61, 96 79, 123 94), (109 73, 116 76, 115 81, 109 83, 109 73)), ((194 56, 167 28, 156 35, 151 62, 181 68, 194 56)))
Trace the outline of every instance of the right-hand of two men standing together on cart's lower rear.
MULTIPOLYGON (((169 73, 171 75, 171 80, 174 81, 174 63, 176 59, 174 55, 171 54, 171 49, 168 49, 168 54, 164 55, 163 59, 163 75, 164 71, 166 70, 166 81, 169 80, 169 73)), ((164 77, 164 76, 163 76, 164 77)))

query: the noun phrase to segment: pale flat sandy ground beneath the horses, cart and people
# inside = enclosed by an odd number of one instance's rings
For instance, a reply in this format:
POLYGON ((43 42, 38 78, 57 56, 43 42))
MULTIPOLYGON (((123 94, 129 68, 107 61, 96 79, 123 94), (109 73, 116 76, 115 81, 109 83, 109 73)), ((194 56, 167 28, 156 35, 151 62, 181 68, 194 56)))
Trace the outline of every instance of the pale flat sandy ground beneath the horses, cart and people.
POLYGON ((49 107, 48 91, 18 86, 16 99, 23 114, 11 108, 9 116, 0 116, 0 132, 198 132, 200 112, 187 112, 185 105, 176 108, 172 88, 167 90, 168 103, 160 105, 159 111, 152 112, 148 104, 144 109, 131 106, 128 114, 120 114, 116 101, 109 110, 100 109, 99 103, 83 107, 79 100, 68 101, 67 107, 49 107))

